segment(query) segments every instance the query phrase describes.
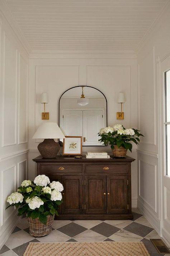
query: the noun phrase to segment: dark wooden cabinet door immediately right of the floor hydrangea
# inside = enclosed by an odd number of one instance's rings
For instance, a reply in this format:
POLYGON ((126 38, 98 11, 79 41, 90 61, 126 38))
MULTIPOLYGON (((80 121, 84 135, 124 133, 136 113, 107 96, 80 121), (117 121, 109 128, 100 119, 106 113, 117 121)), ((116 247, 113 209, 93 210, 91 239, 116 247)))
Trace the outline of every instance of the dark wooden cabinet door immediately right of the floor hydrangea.
POLYGON ((83 212, 82 176, 62 176, 62 214, 80 214, 83 212))

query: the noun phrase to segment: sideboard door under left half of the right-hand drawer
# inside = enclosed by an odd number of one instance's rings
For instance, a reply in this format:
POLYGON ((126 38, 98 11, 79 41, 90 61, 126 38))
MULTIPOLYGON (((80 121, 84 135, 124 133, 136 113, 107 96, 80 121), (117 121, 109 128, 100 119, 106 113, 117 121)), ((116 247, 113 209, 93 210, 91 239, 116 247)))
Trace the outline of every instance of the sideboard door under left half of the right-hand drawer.
POLYGON ((86 214, 106 213, 106 176, 86 176, 85 206, 86 214))

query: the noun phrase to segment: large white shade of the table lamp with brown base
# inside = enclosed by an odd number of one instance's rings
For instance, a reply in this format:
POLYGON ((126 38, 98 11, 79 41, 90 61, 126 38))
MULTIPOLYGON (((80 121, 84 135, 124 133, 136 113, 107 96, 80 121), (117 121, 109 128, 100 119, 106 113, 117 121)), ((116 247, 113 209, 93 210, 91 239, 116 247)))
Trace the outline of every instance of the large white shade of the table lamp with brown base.
POLYGON ((35 132, 33 139, 63 139, 64 134, 58 127, 57 123, 42 123, 35 132))

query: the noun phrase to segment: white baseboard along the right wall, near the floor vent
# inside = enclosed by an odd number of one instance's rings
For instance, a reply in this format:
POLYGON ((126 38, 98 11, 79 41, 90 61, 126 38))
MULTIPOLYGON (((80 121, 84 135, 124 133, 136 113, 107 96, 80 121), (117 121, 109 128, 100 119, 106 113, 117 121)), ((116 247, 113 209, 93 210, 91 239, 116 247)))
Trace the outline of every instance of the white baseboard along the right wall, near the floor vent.
POLYGON ((150 211, 147 204, 140 197, 138 197, 137 199, 137 208, 142 212, 145 218, 149 221, 149 223, 153 226, 156 232, 160 235, 161 234, 160 219, 158 219, 158 217, 150 211))

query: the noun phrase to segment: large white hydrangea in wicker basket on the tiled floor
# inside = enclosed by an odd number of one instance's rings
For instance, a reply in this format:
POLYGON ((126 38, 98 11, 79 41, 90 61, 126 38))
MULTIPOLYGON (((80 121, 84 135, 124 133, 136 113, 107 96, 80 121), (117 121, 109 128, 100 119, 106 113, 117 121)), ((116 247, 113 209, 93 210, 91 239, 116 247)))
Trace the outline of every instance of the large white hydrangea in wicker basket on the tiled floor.
MULTIPOLYGON (((35 237, 47 235, 52 230, 55 214, 62 203, 63 185, 46 175, 38 175, 34 181, 24 180, 17 192, 7 198, 10 206, 18 208, 18 215, 27 216, 29 233, 35 237)), ((6 209, 8 208, 6 207, 6 209)))

